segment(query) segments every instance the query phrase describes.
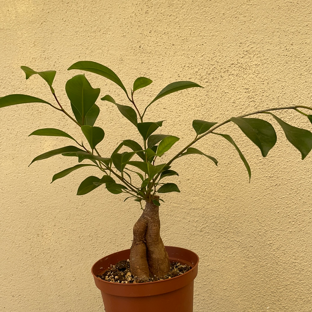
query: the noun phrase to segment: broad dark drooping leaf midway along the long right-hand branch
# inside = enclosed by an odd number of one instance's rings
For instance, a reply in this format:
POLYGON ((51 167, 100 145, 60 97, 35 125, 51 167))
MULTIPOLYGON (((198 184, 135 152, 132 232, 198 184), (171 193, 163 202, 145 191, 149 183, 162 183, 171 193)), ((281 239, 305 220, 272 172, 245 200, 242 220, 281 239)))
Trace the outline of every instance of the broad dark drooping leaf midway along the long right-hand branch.
POLYGON ((246 136, 254 142, 265 157, 276 143, 276 133, 273 126, 258 118, 232 117, 230 119, 237 124, 246 136))

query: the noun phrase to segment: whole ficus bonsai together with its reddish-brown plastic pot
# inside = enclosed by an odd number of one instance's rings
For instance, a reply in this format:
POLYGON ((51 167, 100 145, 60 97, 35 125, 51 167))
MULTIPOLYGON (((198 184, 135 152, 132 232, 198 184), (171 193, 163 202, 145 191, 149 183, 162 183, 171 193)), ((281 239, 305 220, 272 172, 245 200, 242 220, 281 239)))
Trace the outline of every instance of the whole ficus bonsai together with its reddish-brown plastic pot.
MULTIPOLYGON (((56 71, 37 72, 29 67, 22 66, 26 79, 32 75, 41 76, 49 85, 56 104, 51 104, 30 95, 11 94, 0 98, 0 107, 22 104, 22 103, 44 103, 55 110, 67 115, 81 128, 85 142, 81 144, 63 130, 54 128, 38 129, 30 135, 62 136, 75 142, 59 149, 48 151, 35 157, 33 162, 49 158, 55 155, 63 155, 65 158, 74 157, 78 164, 56 173, 52 182, 65 177, 74 170, 85 166, 93 166, 99 169, 99 176, 85 178, 78 187, 77 195, 87 194, 98 187, 106 189, 113 194, 123 194, 126 200, 134 200, 141 205, 143 210, 141 217, 133 227, 133 241, 130 250, 118 251, 97 261, 92 267, 95 283, 101 289, 106 312, 142 311, 179 311, 191 312, 193 298, 193 280, 197 274, 198 257, 183 248, 165 247, 160 236, 159 207, 163 203, 163 193, 180 192, 170 178, 178 175, 173 169, 177 158, 188 154, 199 154, 205 156, 208 162, 217 165, 218 161, 205 152, 193 147, 197 141, 210 135, 218 135, 227 140, 238 152, 249 179, 251 171, 244 155, 241 153, 234 140, 228 134, 218 132, 218 128, 227 123, 236 124, 242 132, 255 144, 265 157, 276 143, 276 133, 273 126, 260 118, 254 118, 256 114, 269 114, 284 130, 286 138, 301 153, 304 159, 312 148, 312 133, 306 129, 290 125, 273 114, 278 110, 295 110, 306 116, 312 123, 311 107, 304 105, 275 107, 245 113, 238 117, 226 119, 217 123, 206 120, 194 120, 194 139, 179 153, 171 155, 169 161, 162 161, 162 156, 170 154, 171 147, 179 141, 175 135, 161 134, 160 129, 163 120, 151 121, 147 119, 146 112, 150 105, 163 96, 187 88, 201 87, 191 81, 178 81, 167 85, 151 102, 142 110, 135 102, 136 91, 151 84, 152 80, 139 77, 134 81, 131 92, 128 93, 118 76, 106 66, 92 61, 79 61, 68 68, 68 70, 88 71, 106 77, 115 82, 125 92, 126 100, 130 106, 121 105, 110 96, 105 95, 101 100, 109 101, 116 105, 119 112, 129 120, 129 125, 136 128, 141 135, 141 142, 133 139, 123 139, 111 155, 102 155, 97 150, 97 144, 104 139, 104 130, 94 126, 100 109, 96 101, 100 95, 100 89, 94 89, 85 75, 79 74, 66 83, 65 90, 68 96, 68 107, 72 115, 65 110, 52 87, 56 71), (70 104, 70 105, 69 105, 70 104), (302 111, 305 110, 306 112, 302 111), (88 146, 87 146, 88 144, 88 146), (119 277, 112 276, 111 280, 103 280, 98 277, 103 271, 115 265, 118 261, 130 262, 131 281, 133 283, 118 283, 119 277), (180 262, 182 266, 189 265, 191 269, 179 276, 164 279, 170 271, 170 260, 180 262), (162 280, 157 280, 160 278, 162 280)), ((259 116, 259 115, 258 115, 259 116)), ((205 117, 203 117, 205 119, 205 117)), ((208 165, 208 164, 207 164, 208 165)), ((128 276, 130 276, 128 275, 128 276)))

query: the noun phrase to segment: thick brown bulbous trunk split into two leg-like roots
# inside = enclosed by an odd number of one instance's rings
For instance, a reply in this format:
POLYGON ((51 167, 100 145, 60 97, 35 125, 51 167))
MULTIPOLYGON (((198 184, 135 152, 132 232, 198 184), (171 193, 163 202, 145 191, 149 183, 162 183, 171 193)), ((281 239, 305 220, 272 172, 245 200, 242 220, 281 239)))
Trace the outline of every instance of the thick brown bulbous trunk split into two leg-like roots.
POLYGON ((146 202, 145 209, 133 227, 130 269, 137 282, 160 277, 170 271, 169 256, 160 237, 158 206, 146 202))

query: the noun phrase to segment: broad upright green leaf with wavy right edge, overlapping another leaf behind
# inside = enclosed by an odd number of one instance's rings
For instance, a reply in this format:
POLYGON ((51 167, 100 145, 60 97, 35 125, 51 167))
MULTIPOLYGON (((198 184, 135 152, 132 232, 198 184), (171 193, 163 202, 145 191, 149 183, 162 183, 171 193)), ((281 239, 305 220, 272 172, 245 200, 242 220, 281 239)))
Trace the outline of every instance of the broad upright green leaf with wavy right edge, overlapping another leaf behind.
MULTIPOLYGON (((83 125, 87 113, 91 110, 100 94, 100 89, 93 89, 84 75, 77 75, 67 81, 65 90, 72 106, 76 108, 76 111, 73 110, 75 117, 77 118, 78 111, 83 125)), ((92 112, 92 116, 94 115, 96 115, 95 111, 92 112)))

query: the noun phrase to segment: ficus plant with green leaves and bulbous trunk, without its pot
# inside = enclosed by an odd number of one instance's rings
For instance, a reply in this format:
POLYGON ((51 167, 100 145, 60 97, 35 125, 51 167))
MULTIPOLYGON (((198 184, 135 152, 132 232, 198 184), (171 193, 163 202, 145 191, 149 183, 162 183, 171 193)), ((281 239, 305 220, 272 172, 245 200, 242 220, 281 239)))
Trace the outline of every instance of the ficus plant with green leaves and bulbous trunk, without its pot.
MULTIPOLYGON (((312 133, 310 131, 290 125, 272 113, 278 110, 295 110, 306 116, 312 123, 312 115, 309 114, 312 108, 304 105, 294 105, 258 110, 219 123, 194 120, 192 124, 194 139, 186 146, 181 147, 181 151, 177 154, 169 154, 170 160, 164 162, 162 156, 170 153, 171 147, 177 144, 179 138, 175 135, 161 133, 160 128, 164 121, 150 121, 148 119, 146 121, 147 109, 163 96, 187 88, 201 88, 201 86, 191 81, 171 83, 163 88, 150 103, 144 105, 144 110, 141 110, 141 105, 136 104, 134 95, 137 90, 150 85, 152 80, 146 77, 137 78, 133 83, 131 92, 128 93, 118 76, 106 66, 92 61, 79 61, 70 66, 68 70, 92 72, 115 82, 121 87, 126 94, 125 100, 130 102, 129 106, 116 103, 110 95, 103 96, 101 100, 116 105, 119 112, 129 120, 141 135, 140 142, 129 138, 123 139, 111 155, 102 155, 97 150, 97 144, 104 139, 105 133, 101 127, 94 126, 100 113, 100 108, 96 104, 100 89, 94 89, 85 75, 74 76, 65 85, 68 101, 63 106, 57 99, 56 92, 52 87, 56 71, 34 71, 26 66, 21 66, 21 69, 25 72, 26 79, 32 75, 39 75, 47 82, 55 104, 30 95, 11 94, 0 98, 0 107, 22 103, 47 104, 72 119, 81 128, 85 137, 85 142, 82 141, 80 144, 78 140, 63 130, 54 128, 38 129, 30 135, 66 137, 74 141, 74 145, 41 154, 35 157, 31 164, 59 154, 65 158, 75 157, 78 164, 54 174, 52 182, 79 168, 93 166, 98 168, 99 175, 85 178, 78 187, 77 195, 84 195, 98 187, 102 187, 113 194, 123 193, 126 197, 124 201, 132 199, 141 204, 143 212, 133 227, 133 241, 130 253, 130 268, 137 282, 144 282, 150 276, 166 275, 170 270, 169 257, 160 237, 158 211, 163 202, 161 198, 163 193, 180 192, 178 186, 170 182, 171 176, 178 175, 172 168, 174 161, 188 154, 199 154, 208 158, 207 161, 211 162, 211 164, 218 164, 213 156, 194 148, 193 144, 207 135, 223 137, 238 152, 248 172, 249 180, 251 177, 250 166, 231 136, 218 132, 222 125, 230 122, 236 124, 258 146, 262 156, 265 157, 276 143, 275 129, 268 121, 251 116, 269 114, 281 126, 288 141, 300 151, 302 159, 309 154, 312 148, 312 133), (64 108, 65 106, 66 109, 69 108, 72 112, 68 113, 64 108), (143 202, 145 202, 144 208, 142 206, 143 202)), ((203 117, 203 119, 206 119, 206 117, 203 117)))

